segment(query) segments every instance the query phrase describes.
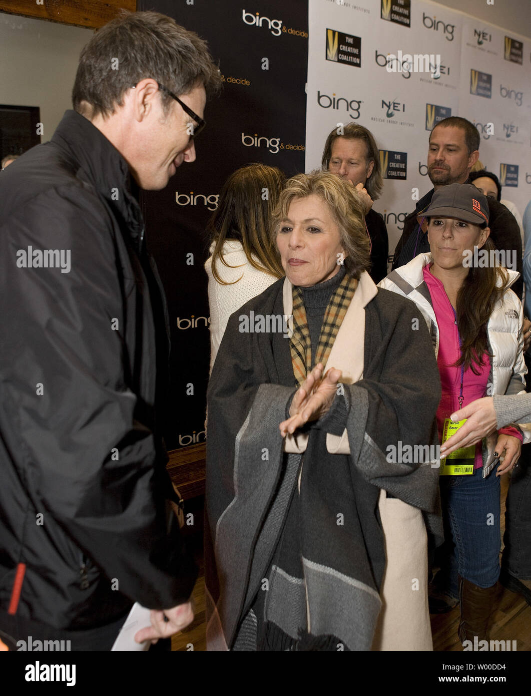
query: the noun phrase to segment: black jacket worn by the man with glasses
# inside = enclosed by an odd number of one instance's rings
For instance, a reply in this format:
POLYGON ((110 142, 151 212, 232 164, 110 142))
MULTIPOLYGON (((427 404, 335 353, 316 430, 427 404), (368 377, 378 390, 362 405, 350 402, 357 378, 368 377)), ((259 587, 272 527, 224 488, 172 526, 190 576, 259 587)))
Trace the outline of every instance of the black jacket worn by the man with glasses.
POLYGON ((86 118, 67 111, 13 164, 0 174, 0 612, 88 629, 132 601, 187 601, 196 578, 156 417, 164 292, 129 167, 86 118))

